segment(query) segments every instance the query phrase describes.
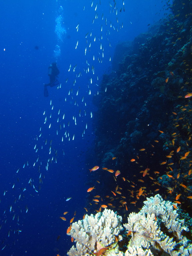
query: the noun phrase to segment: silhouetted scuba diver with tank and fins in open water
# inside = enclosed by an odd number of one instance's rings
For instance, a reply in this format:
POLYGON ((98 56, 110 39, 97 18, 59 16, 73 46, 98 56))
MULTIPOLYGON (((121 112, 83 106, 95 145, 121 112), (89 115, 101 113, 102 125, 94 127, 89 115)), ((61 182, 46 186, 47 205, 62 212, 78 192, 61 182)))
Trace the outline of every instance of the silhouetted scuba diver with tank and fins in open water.
POLYGON ((59 85, 59 81, 57 80, 58 75, 59 75, 59 69, 57 68, 57 63, 53 62, 48 68, 48 76, 49 76, 50 83, 44 84, 45 97, 49 96, 47 86, 53 87, 53 86, 59 85))

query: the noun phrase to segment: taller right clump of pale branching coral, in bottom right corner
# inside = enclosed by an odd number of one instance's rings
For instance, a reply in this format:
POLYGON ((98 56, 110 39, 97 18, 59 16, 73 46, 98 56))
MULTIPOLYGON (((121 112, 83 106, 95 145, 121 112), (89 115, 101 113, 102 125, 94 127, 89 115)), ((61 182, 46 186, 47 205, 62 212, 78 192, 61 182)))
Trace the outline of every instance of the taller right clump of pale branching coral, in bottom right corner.
POLYGON ((173 203, 164 201, 160 195, 147 198, 139 213, 129 215, 128 223, 124 227, 132 231, 126 256, 141 255, 142 250, 138 253, 139 247, 147 250, 142 255, 153 255, 151 251, 161 251, 171 256, 185 251, 185 255, 191 255, 192 245, 182 235, 183 230, 188 231, 184 220, 178 218, 173 203))

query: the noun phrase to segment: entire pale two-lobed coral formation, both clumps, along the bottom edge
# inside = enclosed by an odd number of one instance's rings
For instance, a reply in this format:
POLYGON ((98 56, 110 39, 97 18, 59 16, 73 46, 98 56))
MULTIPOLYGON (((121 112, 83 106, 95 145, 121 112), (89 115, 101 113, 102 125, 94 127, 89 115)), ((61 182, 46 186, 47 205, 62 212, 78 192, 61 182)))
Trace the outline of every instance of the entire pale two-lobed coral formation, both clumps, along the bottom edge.
MULTIPOLYGON (((176 204, 164 201, 160 195, 147 198, 139 213, 130 213, 128 223, 124 224, 131 238, 127 250, 121 251, 118 241, 122 217, 112 210, 105 209, 95 216, 86 215, 84 220, 72 224, 71 235, 76 242, 67 253, 68 256, 83 255, 192 255, 191 241, 185 236, 189 229, 184 219, 180 219, 176 204)), ((125 230, 124 230, 125 231, 125 230)))

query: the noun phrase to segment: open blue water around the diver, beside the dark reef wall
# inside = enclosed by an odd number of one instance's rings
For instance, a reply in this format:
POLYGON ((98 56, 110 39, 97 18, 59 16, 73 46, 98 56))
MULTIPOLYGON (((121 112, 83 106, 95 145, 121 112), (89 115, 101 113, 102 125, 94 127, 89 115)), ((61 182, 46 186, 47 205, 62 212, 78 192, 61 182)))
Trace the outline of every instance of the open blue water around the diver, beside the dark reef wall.
POLYGON ((85 213, 88 169, 98 164, 92 96, 102 75, 111 70, 116 45, 132 41, 168 12, 164 0, 91 4, 0 2, 2 256, 66 255, 71 247, 66 235, 69 220, 75 211, 75 220, 85 213), (49 83, 53 61, 61 86, 48 88, 45 98, 43 84, 49 83), (66 201, 68 197, 72 198, 66 201), (64 211, 69 212, 67 221, 59 218, 64 211))

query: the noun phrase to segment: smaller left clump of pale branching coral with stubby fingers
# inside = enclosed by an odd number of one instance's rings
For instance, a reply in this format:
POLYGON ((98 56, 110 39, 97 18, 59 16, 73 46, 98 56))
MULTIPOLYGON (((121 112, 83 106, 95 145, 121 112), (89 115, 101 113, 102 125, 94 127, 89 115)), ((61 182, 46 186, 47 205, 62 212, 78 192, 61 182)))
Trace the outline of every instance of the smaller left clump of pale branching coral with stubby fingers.
POLYGON ((123 229, 121 226, 122 217, 114 211, 105 209, 96 215, 85 215, 83 220, 74 222, 68 235, 76 242, 75 246, 67 253, 68 256, 89 255, 95 249, 96 243, 103 247, 115 242, 115 236, 123 229))

